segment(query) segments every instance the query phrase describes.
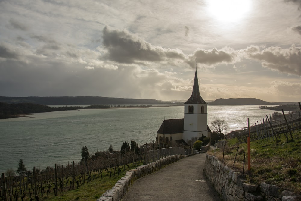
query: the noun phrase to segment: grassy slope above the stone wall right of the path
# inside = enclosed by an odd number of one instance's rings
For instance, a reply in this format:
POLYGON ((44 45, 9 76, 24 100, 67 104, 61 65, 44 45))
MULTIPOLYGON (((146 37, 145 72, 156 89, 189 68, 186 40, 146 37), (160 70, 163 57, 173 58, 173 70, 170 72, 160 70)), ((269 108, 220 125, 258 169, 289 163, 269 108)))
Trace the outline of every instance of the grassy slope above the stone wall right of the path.
MULTIPOLYGON (((245 173, 250 183, 266 182, 283 189, 301 194, 301 131, 293 133, 294 141, 287 142, 282 134, 280 141, 254 140, 250 143, 251 171, 247 166, 247 143, 236 144, 237 139, 229 140, 229 147, 225 148, 224 164, 235 171, 243 171, 244 152, 245 173), (238 148, 237 159, 234 164, 238 148)), ((279 139, 279 138, 278 138, 279 139)), ((290 134, 288 134, 290 140, 290 134)), ((214 155, 214 150, 210 152, 214 155)), ((223 150, 216 150, 216 156, 222 161, 223 150)))

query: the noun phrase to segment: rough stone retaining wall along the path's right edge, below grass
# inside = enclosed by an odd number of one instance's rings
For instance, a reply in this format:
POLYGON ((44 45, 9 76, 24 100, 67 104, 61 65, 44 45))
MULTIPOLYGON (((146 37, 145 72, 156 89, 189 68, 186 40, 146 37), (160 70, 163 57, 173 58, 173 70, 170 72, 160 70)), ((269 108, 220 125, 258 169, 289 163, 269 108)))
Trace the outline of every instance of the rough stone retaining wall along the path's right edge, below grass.
POLYGON ((215 156, 206 155, 205 174, 223 200, 244 201, 297 201, 301 196, 279 187, 261 183, 248 184, 244 175, 234 172, 215 156))

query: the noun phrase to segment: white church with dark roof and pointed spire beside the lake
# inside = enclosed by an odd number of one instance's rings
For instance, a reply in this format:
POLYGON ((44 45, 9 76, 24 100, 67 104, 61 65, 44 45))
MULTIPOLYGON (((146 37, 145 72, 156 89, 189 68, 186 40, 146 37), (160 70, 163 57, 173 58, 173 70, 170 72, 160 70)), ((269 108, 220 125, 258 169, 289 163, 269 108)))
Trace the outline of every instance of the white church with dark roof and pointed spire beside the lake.
POLYGON ((207 103, 200 95, 197 80, 197 60, 192 94, 184 103, 184 119, 165 119, 157 131, 157 143, 174 142, 187 144, 188 140, 210 137, 211 130, 207 125, 207 103))

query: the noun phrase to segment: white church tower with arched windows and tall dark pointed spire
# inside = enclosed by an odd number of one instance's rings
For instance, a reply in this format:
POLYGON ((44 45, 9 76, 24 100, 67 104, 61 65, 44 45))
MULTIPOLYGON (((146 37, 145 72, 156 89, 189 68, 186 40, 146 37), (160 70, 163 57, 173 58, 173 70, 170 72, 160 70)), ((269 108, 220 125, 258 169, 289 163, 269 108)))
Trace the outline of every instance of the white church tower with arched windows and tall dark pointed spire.
POLYGON ((208 136, 207 128, 207 103, 200 95, 199 82, 197 80, 197 59, 195 60, 195 75, 192 94, 185 102, 183 140, 191 140, 193 137, 208 136))

